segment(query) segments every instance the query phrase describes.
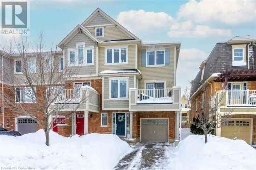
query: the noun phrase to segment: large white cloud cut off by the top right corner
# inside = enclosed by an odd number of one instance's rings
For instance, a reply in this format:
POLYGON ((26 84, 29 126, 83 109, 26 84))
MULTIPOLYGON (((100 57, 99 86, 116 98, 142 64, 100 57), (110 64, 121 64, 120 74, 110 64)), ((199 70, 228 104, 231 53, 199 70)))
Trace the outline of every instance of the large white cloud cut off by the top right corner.
POLYGON ((256 2, 248 0, 190 0, 181 5, 178 18, 195 22, 222 21, 241 24, 256 19, 256 2))

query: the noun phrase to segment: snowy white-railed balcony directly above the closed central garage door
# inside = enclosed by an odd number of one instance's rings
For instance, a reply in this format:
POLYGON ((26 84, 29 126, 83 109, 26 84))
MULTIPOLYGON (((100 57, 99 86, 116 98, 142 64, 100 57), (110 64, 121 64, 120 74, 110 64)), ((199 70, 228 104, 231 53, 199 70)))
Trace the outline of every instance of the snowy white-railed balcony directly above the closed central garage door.
POLYGON ((129 111, 179 111, 181 88, 129 89, 129 111))

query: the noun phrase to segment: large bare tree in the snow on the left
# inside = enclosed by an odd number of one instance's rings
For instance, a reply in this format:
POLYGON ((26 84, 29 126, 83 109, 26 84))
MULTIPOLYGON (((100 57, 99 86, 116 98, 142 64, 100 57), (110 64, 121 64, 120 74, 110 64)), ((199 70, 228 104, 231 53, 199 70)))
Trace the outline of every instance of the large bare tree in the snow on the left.
POLYGON ((24 38, 21 42, 14 39, 2 49, 5 55, 20 58, 14 61, 16 74, 11 84, 6 86, 8 94, 2 94, 5 107, 13 114, 27 115, 37 121, 45 132, 45 144, 49 146, 49 131, 54 128, 53 122, 60 115, 65 115, 65 119, 71 117, 69 112, 62 110, 73 103, 72 112, 75 112, 90 98, 86 90, 65 90, 66 86, 73 84, 80 66, 64 67, 60 59, 62 52, 57 51, 57 46, 46 50, 43 34, 39 35, 36 43, 24 38))

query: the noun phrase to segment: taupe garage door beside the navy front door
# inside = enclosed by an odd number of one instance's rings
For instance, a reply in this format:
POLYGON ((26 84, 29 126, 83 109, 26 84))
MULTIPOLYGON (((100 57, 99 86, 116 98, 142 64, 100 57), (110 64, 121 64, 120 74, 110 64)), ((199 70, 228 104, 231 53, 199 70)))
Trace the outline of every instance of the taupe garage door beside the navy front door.
POLYGON ((141 119, 141 142, 167 142, 168 119, 141 119))

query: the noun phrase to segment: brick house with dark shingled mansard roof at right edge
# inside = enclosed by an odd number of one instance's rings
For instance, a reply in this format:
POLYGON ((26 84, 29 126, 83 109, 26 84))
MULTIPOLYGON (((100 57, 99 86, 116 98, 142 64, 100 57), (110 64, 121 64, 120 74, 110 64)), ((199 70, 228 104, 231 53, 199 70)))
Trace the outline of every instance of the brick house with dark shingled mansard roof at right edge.
MULTIPOLYGON (((215 45, 192 81, 191 114, 200 112, 202 89, 224 95, 221 113, 232 119, 217 128, 216 135, 256 143, 256 36, 236 36, 215 45)), ((190 120, 193 119, 191 116, 190 120)))

